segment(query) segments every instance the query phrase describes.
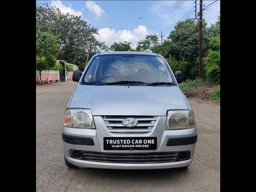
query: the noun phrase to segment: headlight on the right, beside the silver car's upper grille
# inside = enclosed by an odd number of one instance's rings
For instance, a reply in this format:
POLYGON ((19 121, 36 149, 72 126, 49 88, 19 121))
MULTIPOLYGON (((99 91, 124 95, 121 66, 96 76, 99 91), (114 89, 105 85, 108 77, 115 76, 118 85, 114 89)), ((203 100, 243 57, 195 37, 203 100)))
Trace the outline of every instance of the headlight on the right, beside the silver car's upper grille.
POLYGON ((165 130, 188 129, 196 127, 194 113, 190 110, 169 110, 165 130))

